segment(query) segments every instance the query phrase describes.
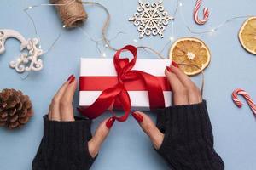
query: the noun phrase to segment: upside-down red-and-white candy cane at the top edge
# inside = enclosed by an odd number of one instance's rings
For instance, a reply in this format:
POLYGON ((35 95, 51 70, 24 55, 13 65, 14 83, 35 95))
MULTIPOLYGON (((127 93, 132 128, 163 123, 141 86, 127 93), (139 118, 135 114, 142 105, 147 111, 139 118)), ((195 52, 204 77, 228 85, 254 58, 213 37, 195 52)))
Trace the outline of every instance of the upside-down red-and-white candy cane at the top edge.
POLYGON ((196 0, 195 8, 194 8, 194 14, 193 14, 195 23, 198 24, 198 25, 204 25, 207 22, 207 20, 209 19, 209 9, 208 8, 204 8, 204 11, 203 11, 204 18, 203 18, 203 20, 199 19, 198 12, 199 12, 199 9, 201 7, 201 1, 202 0, 196 0))

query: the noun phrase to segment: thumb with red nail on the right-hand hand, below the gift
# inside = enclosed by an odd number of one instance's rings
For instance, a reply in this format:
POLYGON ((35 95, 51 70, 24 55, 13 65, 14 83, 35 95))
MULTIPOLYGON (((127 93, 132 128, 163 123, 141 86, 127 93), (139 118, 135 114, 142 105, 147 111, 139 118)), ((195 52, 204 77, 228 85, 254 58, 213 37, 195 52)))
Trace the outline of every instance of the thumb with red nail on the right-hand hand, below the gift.
POLYGON ((164 134, 155 126, 152 119, 141 111, 135 111, 131 114, 143 128, 144 133, 148 135, 155 149, 159 149, 164 140, 164 134))

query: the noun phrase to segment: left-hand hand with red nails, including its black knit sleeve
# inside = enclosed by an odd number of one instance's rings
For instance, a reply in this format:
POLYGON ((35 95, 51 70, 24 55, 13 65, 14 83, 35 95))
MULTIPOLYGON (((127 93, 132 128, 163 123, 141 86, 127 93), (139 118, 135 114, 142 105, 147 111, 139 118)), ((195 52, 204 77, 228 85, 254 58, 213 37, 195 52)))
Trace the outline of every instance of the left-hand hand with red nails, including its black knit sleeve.
POLYGON ((33 170, 90 169, 114 118, 104 120, 90 133, 91 120, 73 115, 73 95, 77 87, 72 75, 63 83, 44 116, 44 136, 32 161, 33 170))

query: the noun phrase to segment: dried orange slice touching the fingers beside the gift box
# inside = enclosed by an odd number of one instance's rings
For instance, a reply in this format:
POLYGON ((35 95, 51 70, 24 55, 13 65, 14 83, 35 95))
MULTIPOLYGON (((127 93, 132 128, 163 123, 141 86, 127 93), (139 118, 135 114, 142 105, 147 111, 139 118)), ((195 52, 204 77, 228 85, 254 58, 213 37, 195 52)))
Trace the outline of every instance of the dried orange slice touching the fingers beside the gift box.
POLYGON ((178 39, 172 44, 169 58, 180 64, 179 67, 185 74, 193 76, 203 71, 209 65, 211 54, 207 45, 200 39, 185 37, 178 39))

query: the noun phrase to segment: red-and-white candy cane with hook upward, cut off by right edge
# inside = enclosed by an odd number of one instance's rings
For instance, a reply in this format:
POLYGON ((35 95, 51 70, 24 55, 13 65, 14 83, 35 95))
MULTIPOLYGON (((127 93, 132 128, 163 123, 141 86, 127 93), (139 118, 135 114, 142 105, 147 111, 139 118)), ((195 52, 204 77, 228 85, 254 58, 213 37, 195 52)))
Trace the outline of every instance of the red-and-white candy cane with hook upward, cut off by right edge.
POLYGON ((241 108, 241 106, 242 106, 241 100, 237 98, 238 94, 243 96, 247 100, 248 105, 250 106, 251 110, 253 111, 254 115, 256 116, 256 105, 254 104, 253 99, 250 97, 249 94, 247 94, 246 91, 244 91, 241 88, 237 88, 232 93, 232 99, 233 99, 234 103, 237 105, 237 107, 241 108))

